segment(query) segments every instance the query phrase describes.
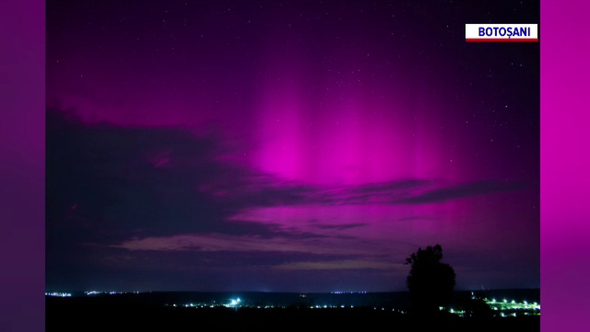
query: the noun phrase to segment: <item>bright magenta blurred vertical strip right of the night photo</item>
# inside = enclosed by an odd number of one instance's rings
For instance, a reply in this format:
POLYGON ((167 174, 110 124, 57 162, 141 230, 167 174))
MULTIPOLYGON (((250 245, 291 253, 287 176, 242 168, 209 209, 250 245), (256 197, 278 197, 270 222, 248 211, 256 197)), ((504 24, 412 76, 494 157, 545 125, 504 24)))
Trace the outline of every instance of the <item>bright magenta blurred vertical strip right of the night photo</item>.
POLYGON ((542 331, 588 331, 588 1, 541 1, 542 331))

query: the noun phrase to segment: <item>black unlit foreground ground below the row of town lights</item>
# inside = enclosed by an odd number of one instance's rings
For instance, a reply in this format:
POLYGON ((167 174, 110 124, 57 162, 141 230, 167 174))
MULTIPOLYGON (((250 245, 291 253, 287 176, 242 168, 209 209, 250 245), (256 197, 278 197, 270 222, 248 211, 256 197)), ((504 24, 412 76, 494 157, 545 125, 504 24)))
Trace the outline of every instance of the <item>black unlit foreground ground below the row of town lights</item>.
POLYGON ((539 316, 415 318, 374 308, 185 308, 100 298, 46 298, 47 331, 539 331, 539 316))

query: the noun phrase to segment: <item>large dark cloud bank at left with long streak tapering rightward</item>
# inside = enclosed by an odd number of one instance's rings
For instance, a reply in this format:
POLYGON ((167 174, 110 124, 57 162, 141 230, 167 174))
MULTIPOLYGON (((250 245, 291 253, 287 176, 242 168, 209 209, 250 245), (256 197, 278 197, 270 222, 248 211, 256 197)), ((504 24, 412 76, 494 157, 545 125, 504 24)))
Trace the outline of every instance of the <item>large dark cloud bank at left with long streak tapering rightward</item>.
POLYGON ((230 217, 249 207, 428 204, 526 187, 477 181, 433 188, 432 180, 404 179, 317 188, 222 161, 232 152, 222 139, 183 128, 84 125, 55 110, 47 128, 48 234, 86 242, 199 232, 323 237, 230 217))

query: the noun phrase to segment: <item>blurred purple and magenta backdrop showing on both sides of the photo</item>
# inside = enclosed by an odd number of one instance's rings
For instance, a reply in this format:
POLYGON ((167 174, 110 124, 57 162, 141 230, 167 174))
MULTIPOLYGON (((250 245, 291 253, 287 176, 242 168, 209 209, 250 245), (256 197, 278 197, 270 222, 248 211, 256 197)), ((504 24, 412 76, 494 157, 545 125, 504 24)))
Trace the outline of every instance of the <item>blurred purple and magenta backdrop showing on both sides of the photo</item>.
MULTIPOLYGON (((0 122, 3 144, 0 149, 3 156, 13 156, 3 158, 8 162, 2 164, 2 175, 9 176, 2 176, 0 185, 1 217, 8 220, 0 242, 3 271, 8 271, 0 276, 3 289, 0 324, 4 324, 0 327, 12 324, 14 330, 42 330, 45 272, 42 222, 44 2, 4 1, 0 8, 1 44, 12 45, 0 53, 2 74, 6 75, 0 81, 3 87, 0 90, 3 100, 0 122)), ((586 172, 590 165, 588 157, 579 155, 579 151, 586 150, 588 139, 588 122, 582 121, 588 119, 586 110, 590 108, 587 93, 590 73, 585 58, 588 37, 568 37, 566 34, 581 31, 581 23, 576 22, 584 22, 588 9, 584 1, 559 6, 542 1, 543 331, 585 330, 588 326, 584 297, 588 292, 590 269, 574 265, 587 261, 582 243, 588 238, 585 222, 590 219, 584 199, 587 197, 585 188, 590 185, 586 172), (572 49, 575 50, 572 53, 563 52, 572 49), (568 80, 564 80, 566 77, 568 80), (559 112, 555 111, 557 109, 559 112), (564 303, 575 305, 566 307, 564 303)))

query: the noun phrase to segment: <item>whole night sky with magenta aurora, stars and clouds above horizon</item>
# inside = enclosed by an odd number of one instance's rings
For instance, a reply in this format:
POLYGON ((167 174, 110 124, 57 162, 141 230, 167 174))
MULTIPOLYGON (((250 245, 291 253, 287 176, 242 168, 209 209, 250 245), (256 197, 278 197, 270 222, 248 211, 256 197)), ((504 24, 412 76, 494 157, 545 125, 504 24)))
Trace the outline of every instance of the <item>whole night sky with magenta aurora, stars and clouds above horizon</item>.
POLYGON ((48 291, 540 286, 526 1, 48 1, 48 291))

